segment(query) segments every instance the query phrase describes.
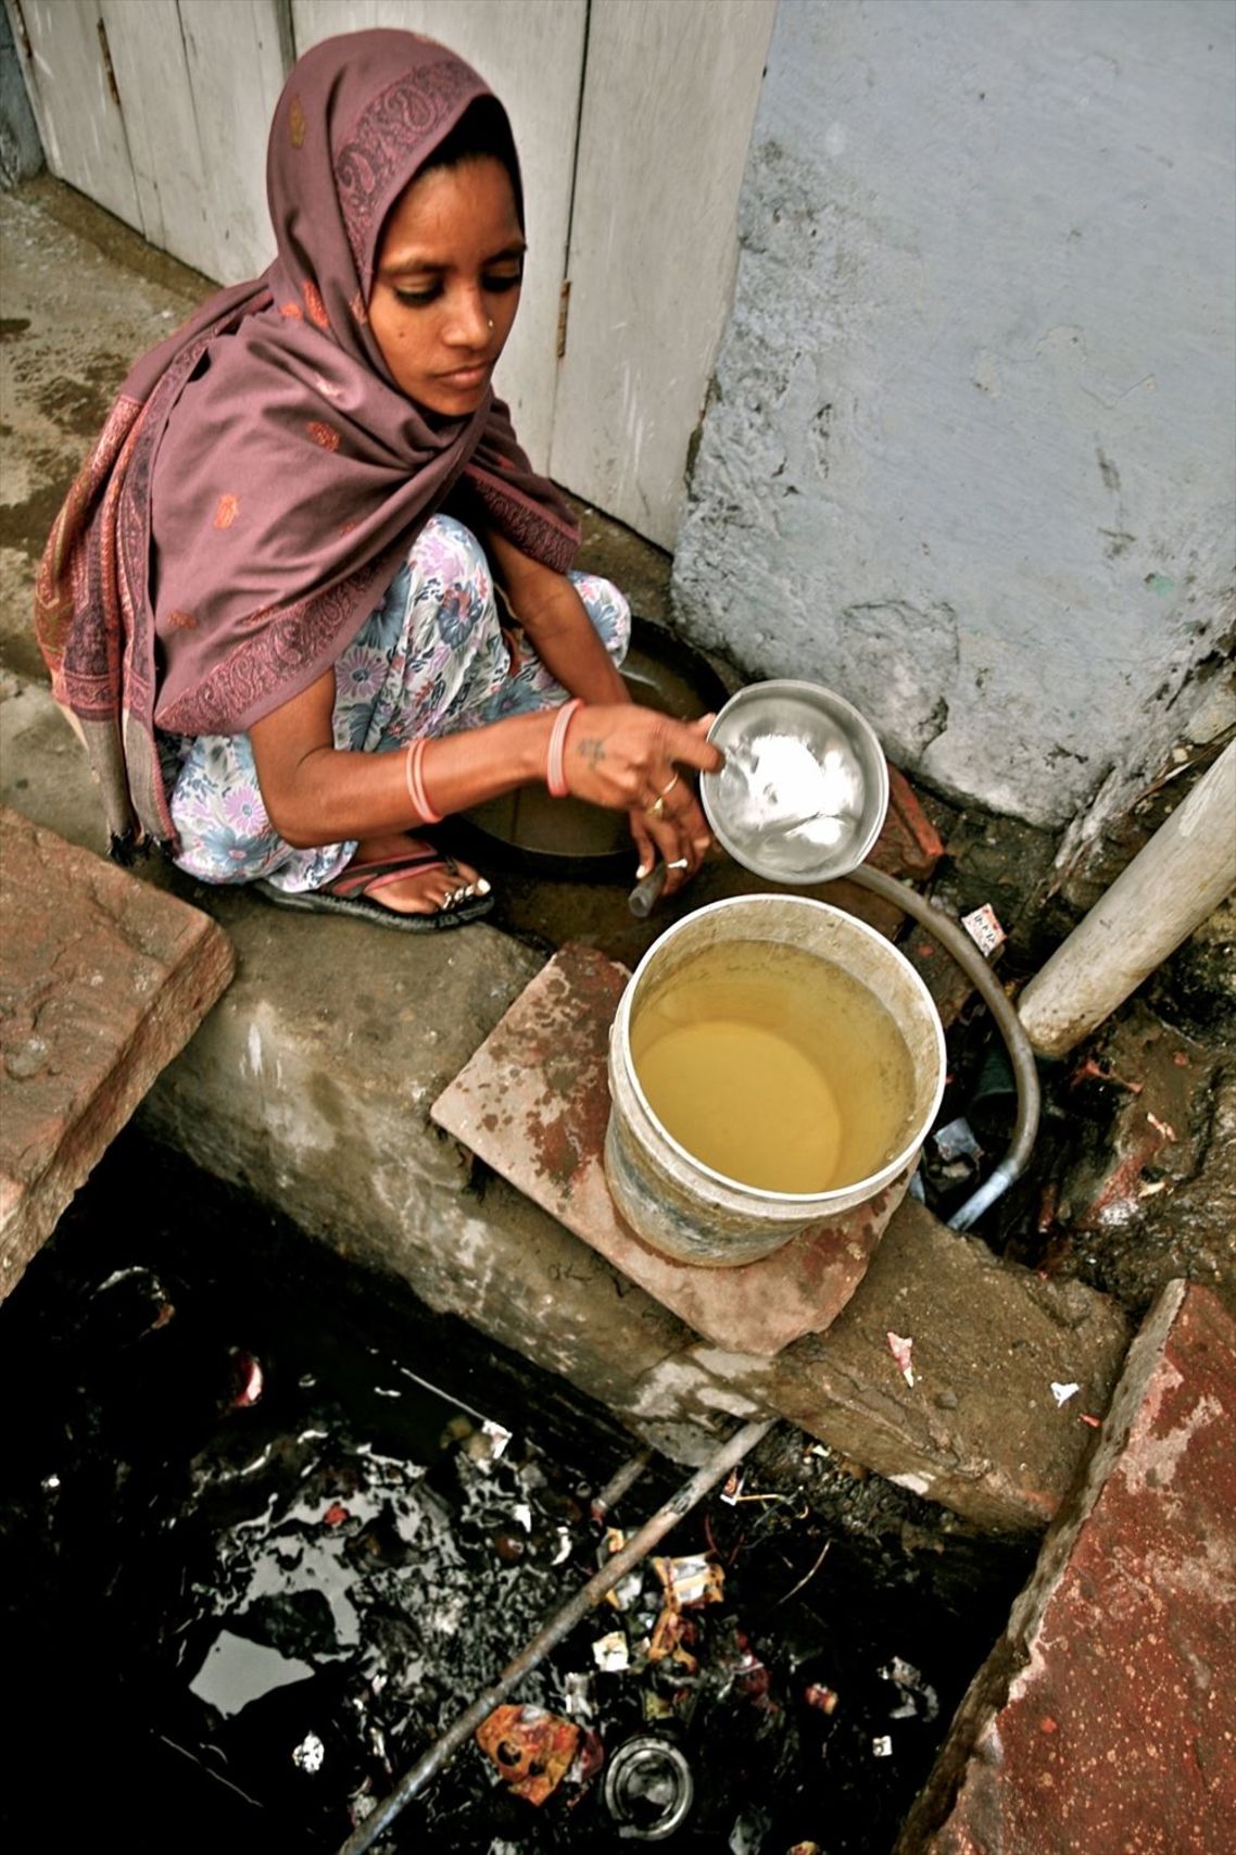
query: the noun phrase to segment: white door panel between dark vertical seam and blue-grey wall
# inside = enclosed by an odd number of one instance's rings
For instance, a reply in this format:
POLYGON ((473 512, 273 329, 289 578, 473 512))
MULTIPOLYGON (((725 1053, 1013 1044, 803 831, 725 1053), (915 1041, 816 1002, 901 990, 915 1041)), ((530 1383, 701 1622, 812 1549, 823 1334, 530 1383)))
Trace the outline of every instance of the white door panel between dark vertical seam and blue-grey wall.
POLYGON ((591 0, 550 475, 673 547, 776 0, 591 0))

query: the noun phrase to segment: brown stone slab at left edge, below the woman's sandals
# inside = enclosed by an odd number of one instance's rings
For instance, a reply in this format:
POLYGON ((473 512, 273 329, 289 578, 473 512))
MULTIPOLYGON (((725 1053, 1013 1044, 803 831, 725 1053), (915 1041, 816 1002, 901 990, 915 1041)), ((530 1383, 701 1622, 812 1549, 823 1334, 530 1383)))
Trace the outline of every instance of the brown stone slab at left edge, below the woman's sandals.
POLYGON ((198 909, 0 809, 0 1297, 224 991, 198 909))

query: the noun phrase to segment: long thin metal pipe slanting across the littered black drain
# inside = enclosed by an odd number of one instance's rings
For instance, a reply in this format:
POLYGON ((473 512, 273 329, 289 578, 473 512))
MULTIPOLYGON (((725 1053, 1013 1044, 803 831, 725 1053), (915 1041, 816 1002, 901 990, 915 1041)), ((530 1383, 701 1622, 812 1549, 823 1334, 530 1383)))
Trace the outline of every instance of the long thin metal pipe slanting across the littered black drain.
POLYGON ((539 1662, 545 1660, 550 1649, 554 1649, 563 1636, 569 1636, 576 1623, 582 1623, 589 1610, 604 1599, 606 1592, 612 1592, 626 1573, 637 1566, 647 1554, 658 1545, 660 1540, 675 1527, 684 1514, 689 1514, 704 1495, 717 1486, 719 1480, 734 1469, 743 1456, 747 1456, 762 1438, 775 1425, 775 1417, 763 1417, 758 1423, 745 1423, 741 1430, 713 1451, 708 1462, 695 1471, 695 1475, 682 1484, 678 1493, 656 1510, 652 1519, 647 1519, 639 1532, 636 1532, 613 1558, 606 1560, 600 1571, 584 1584, 574 1597, 571 1597, 561 1610, 554 1612, 549 1623, 519 1651, 513 1662, 508 1662, 498 1679, 478 1694, 476 1699, 465 1712, 461 1712, 456 1721, 447 1727, 439 1740, 411 1766, 410 1772, 400 1777, 395 1790, 385 1797, 363 1823, 352 1831, 348 1840, 339 1848, 339 1855, 363 1855, 363 1849, 372 1848, 380 1835, 384 1835, 406 1803, 424 1790, 432 1777, 454 1759, 458 1749, 465 1740, 473 1736, 482 1720, 487 1720, 495 1707, 500 1707, 506 1695, 515 1688, 524 1675, 530 1675, 539 1662))

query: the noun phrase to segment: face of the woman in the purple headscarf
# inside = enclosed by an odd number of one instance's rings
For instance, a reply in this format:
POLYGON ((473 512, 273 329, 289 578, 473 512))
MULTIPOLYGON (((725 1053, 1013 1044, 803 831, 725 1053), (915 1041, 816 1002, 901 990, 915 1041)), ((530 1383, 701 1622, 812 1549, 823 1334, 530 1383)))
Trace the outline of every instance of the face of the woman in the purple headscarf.
POLYGON ((432 167, 382 228, 369 326, 395 384, 430 412, 463 417, 486 397, 519 308, 524 236, 491 156, 432 167))

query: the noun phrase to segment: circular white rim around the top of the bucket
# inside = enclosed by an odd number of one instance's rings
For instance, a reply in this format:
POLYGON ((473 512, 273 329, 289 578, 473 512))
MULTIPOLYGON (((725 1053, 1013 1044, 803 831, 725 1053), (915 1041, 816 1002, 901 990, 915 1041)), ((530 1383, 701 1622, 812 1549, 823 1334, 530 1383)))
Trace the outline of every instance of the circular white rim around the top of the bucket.
POLYGON ((878 1191, 889 1185, 904 1171, 904 1167, 910 1165, 914 1156, 923 1146, 923 1141, 927 1139, 930 1126, 936 1115, 940 1113, 940 1104, 945 1093, 945 1078, 949 1067, 945 1031, 940 1020, 936 1000, 927 989, 923 976, 914 970, 914 966, 901 952, 901 948, 893 946, 893 942, 888 940, 878 931, 878 928, 871 928, 869 922, 860 920, 856 915, 849 915, 845 909, 836 907, 832 902, 817 902, 813 896, 778 896, 773 890, 760 890, 758 894, 752 896, 723 896, 719 902, 706 902, 700 909, 693 909, 689 915, 684 915, 682 920, 676 920, 671 928, 667 928, 662 935, 656 937, 652 946, 647 948, 647 952, 643 953, 639 965, 634 968, 619 1000, 617 1013, 613 1017, 613 1031, 621 1035, 626 1085, 632 1089, 641 1109, 645 1111, 645 1115, 649 1117, 649 1120, 652 1122, 652 1126, 656 1128, 656 1132, 660 1133, 660 1137, 665 1141, 667 1146, 671 1146, 682 1159, 686 1159, 691 1167, 695 1167, 697 1172, 700 1172, 704 1178, 713 1180, 717 1185, 723 1185, 726 1191, 736 1193, 739 1198, 754 1198, 760 1204, 773 1204, 776 1208, 786 1208, 791 1211, 808 1206, 821 1206, 823 1208, 821 1217, 826 1215, 828 1209, 832 1208, 845 1209, 845 1206, 841 1204, 843 1198, 854 1204, 862 1204, 864 1198, 875 1196, 878 1191), (675 1139, 665 1122, 654 1111, 652 1104, 643 1093, 639 1072, 636 1070, 636 1061, 630 1054, 632 1000, 639 991, 639 981, 643 979, 654 953, 658 953, 667 940, 673 940, 686 928, 693 926, 704 916, 717 915, 721 913, 721 909, 750 907, 752 902, 778 902, 782 905, 789 903, 791 907, 813 909, 823 915, 830 915, 836 920, 845 922, 847 931, 858 929, 860 935, 865 935, 869 940, 878 942, 882 953, 891 953, 893 963, 904 968, 904 978, 910 981, 912 992, 917 992, 919 1002, 925 1007, 927 1017, 934 1030, 936 1087, 932 1091, 930 1113, 925 1113, 917 1122, 919 1132, 915 1132, 902 1146, 899 1146, 893 1158, 888 1159, 878 1172, 869 1172, 865 1178, 856 1178, 849 1185, 838 1185, 832 1191, 773 1191, 762 1185, 749 1185, 741 1178, 730 1178, 728 1172, 717 1172, 715 1167, 706 1165, 697 1154, 691 1152, 689 1146, 684 1146, 682 1141, 675 1139), (856 1193, 858 1198, 854 1196, 856 1193))

